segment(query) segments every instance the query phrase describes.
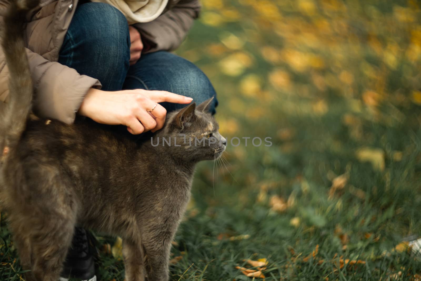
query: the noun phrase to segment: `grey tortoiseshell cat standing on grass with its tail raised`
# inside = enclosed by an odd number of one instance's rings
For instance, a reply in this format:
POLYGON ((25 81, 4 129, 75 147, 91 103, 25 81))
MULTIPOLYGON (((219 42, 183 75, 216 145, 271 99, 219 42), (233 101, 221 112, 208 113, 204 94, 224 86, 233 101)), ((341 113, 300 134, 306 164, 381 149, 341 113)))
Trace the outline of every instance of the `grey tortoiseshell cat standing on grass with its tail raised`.
POLYGON ((9 149, 0 155, 0 199, 21 264, 31 270, 26 280, 58 280, 75 225, 123 238, 126 281, 167 280, 171 241, 189 201, 195 164, 225 149, 208 113, 211 100, 168 114, 153 135, 153 144, 160 139, 157 147, 93 123, 30 120, 32 80, 22 22, 37 0, 11 2, 2 30, 10 104, 0 122, 0 153, 9 149), (171 146, 163 146, 162 137, 170 136, 171 146), (203 137, 205 145, 195 145, 203 137))

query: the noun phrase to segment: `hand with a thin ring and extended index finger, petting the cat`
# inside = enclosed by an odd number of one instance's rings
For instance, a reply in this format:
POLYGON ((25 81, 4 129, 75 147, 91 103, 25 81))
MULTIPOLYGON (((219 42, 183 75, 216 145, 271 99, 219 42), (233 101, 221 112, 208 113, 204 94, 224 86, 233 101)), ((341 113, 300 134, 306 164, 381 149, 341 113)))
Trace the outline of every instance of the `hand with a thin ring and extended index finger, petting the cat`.
POLYGON ((79 114, 101 124, 125 125, 131 134, 141 134, 155 132, 164 126, 167 110, 158 102, 189 104, 192 100, 166 91, 101 91, 91 88, 80 105, 79 114), (150 112, 152 108, 154 110, 150 112))

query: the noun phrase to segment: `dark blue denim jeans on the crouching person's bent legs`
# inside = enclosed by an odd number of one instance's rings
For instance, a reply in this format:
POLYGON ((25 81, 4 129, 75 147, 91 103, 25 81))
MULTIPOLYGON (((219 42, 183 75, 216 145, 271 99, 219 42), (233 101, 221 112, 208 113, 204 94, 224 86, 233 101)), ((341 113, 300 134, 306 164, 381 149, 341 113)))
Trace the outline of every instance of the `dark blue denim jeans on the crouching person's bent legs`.
MULTIPOLYGON (((142 54, 129 66, 130 36, 123 14, 104 3, 78 5, 59 54, 59 62, 98 79, 104 91, 146 89, 169 91, 201 102, 216 96, 206 75, 175 54, 142 54)), ((161 103, 170 112, 185 104, 161 103)), ((218 104, 214 99, 211 112, 218 104)))

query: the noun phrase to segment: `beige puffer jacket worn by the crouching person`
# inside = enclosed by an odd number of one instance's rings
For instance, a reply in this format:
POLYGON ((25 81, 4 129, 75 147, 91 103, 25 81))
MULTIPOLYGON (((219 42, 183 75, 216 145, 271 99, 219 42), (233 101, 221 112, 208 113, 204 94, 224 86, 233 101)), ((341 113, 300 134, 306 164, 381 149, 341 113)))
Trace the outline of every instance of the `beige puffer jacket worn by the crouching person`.
MULTIPOLYGON (((0 9, 5 9, 6 1, 0 0, 0 9)), ((157 19, 135 24, 143 37, 156 44, 148 52, 177 48, 197 18, 199 0, 173 2, 171 10, 157 19)), ((73 123, 88 90, 101 87, 98 80, 57 62, 76 6, 77 0, 41 0, 40 6, 27 17, 27 55, 35 87, 34 112, 65 123, 73 123)), ((0 111, 8 102, 7 81, 8 68, 0 50, 0 111)))

